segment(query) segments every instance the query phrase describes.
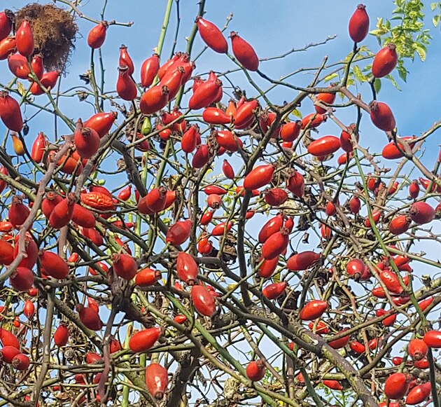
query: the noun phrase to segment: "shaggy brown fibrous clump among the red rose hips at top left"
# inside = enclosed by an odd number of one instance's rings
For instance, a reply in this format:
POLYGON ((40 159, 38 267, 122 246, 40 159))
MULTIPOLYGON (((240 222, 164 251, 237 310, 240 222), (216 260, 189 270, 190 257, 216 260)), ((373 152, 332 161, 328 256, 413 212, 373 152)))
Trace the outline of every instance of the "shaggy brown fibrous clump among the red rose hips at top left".
POLYGON ((52 4, 31 3, 15 13, 15 27, 20 27, 24 19, 31 23, 34 53, 43 55, 46 71, 64 72, 75 48, 73 43, 78 32, 75 16, 52 4))

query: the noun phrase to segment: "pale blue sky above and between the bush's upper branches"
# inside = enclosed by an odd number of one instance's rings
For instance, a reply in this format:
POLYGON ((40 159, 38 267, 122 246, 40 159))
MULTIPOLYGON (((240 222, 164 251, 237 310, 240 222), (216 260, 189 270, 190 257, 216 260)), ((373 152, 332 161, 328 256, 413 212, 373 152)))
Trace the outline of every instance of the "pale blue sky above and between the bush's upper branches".
MULTIPOLYGON (((5 6, 6 4, 2 1, 5 6)), ((7 2, 7 6, 11 6, 7 2)), ((41 2, 43 3, 43 2, 41 2)), ((83 1, 81 10, 92 18, 99 19, 99 12, 102 8, 102 1, 83 1)), ((27 1, 14 1, 14 8, 19 8, 27 4, 27 1)), ((158 43, 158 35, 162 25, 162 19, 166 1, 143 1, 132 0, 126 3, 127 6, 121 7, 120 1, 109 0, 106 8, 106 19, 116 19, 118 21, 133 21, 134 25, 130 28, 112 26, 108 30, 107 39, 102 47, 104 53, 104 63, 106 65, 106 90, 114 89, 116 83, 116 67, 118 63, 118 48, 122 43, 128 47, 129 53, 135 63, 135 78, 139 76, 141 63, 150 56, 152 49, 158 43), (130 4, 130 6, 128 6, 130 4), (135 12, 136 11, 136 12, 135 12)), ((272 57, 290 50, 291 48, 302 48, 307 43, 323 41, 328 35, 336 34, 337 38, 330 41, 325 46, 312 48, 306 53, 294 53, 283 60, 273 60, 262 62, 260 69, 271 76, 278 78, 283 74, 298 69, 300 67, 314 67, 321 63, 324 55, 328 55, 330 62, 337 62, 344 58, 351 50, 352 43, 347 33, 347 25, 353 10, 358 1, 302 1, 279 0, 273 4, 266 1, 212 1, 208 0, 205 6, 207 14, 205 17, 215 22, 219 27, 223 27, 225 19, 233 13, 232 21, 227 29, 238 31, 241 36, 250 42, 259 57, 272 57)), ((392 1, 365 1, 367 13, 370 15, 370 29, 374 29, 377 18, 388 18, 393 10, 392 1)), ((61 4, 60 4, 61 5, 61 4)), ((429 2, 427 2, 426 13, 430 15, 429 2)), ((178 37, 176 50, 186 48, 186 36, 190 33, 193 20, 197 13, 197 1, 180 1, 181 28, 178 37)), ((429 16, 430 17, 430 16, 429 16)), ((407 83, 403 83, 394 74, 402 88, 399 92, 388 81, 383 80, 383 88, 379 94, 379 100, 387 102, 395 115, 398 123, 398 130, 402 135, 419 134, 426 130, 439 118, 437 107, 441 92, 440 81, 433 81, 439 75, 439 61, 441 60, 441 38, 440 29, 435 29, 428 18, 428 27, 432 29, 433 43, 428 49, 426 62, 421 63, 416 57, 415 62, 407 62, 407 69, 410 74, 407 83)), ((176 9, 172 11, 172 23, 167 33, 162 62, 164 62, 171 49, 174 36, 174 23, 176 22, 176 9)), ((83 73, 89 64, 90 49, 87 47, 87 32, 93 27, 92 22, 78 19, 80 33, 82 37, 76 41, 76 50, 71 58, 69 76, 63 78, 62 88, 70 88, 71 85, 80 85, 78 74, 83 73)), ((379 46, 373 36, 368 36, 363 42, 370 46, 372 50, 378 50, 379 46)), ((195 39, 195 54, 202 49, 203 43, 199 36, 195 39)), ((196 73, 205 73, 210 69, 223 71, 234 68, 235 65, 225 55, 208 50, 197 60, 196 73)), ((3 78, 10 73, 3 71, 3 78)), ((256 74, 253 78, 258 80, 262 88, 266 88, 266 83, 260 81, 256 74)), ((246 78, 241 72, 232 76, 239 85, 248 90, 247 95, 253 96, 253 89, 246 83, 246 78)), ((311 74, 300 74, 295 80, 296 84, 306 84, 309 82, 311 74)), ((361 88, 362 95, 365 95, 367 102, 370 101, 370 91, 367 87, 361 88)), ((281 103, 295 96, 292 90, 275 90, 270 93, 275 103, 281 103)), ((71 110, 72 100, 64 102, 66 108, 71 110)), ((300 111, 305 115, 312 109, 309 101, 304 102, 300 111)), ((75 102, 75 109, 71 110, 72 115, 79 113, 92 113, 90 106, 75 102)), ((342 121, 353 121, 354 109, 346 109, 337 115, 342 121)), ((372 133, 378 135, 375 139, 367 140, 361 138, 363 146, 377 147, 384 145, 386 140, 370 123, 365 123, 372 133), (377 142, 379 144, 377 144, 377 142), (373 143, 373 144, 372 144, 373 143)), ((323 131, 328 134, 337 132, 335 125, 327 124, 323 126, 323 131), (326 127, 328 126, 328 127, 326 127)), ((364 131, 366 132, 366 130, 364 131)), ((323 133, 324 134, 324 133, 323 133)), ((373 135, 373 134, 372 134, 373 135)), ((371 134, 369 135, 371 137, 371 134)), ((433 144, 435 147, 437 144, 433 144)), ((430 143, 432 146, 432 143, 430 143)), ((437 149, 429 149, 424 160, 433 162, 437 154, 437 149)))

